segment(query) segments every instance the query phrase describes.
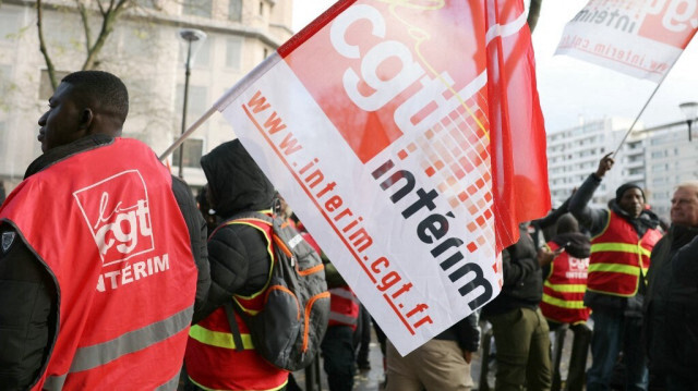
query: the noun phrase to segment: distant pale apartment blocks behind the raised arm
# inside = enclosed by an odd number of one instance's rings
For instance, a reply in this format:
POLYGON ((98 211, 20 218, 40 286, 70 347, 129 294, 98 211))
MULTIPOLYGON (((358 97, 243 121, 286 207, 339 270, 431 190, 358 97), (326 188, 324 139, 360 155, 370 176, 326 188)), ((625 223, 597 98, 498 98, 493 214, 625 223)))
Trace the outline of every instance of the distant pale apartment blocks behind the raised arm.
MULTIPOLYGON (((567 199, 597 170, 601 157, 617 149, 630 124, 628 119, 605 118, 547 134, 547 172, 554 206, 567 199)), ((698 180, 696 158, 698 139, 688 143, 685 121, 640 127, 623 144, 592 206, 604 207, 619 185, 631 182, 643 188, 652 210, 670 221, 676 185, 698 180)))

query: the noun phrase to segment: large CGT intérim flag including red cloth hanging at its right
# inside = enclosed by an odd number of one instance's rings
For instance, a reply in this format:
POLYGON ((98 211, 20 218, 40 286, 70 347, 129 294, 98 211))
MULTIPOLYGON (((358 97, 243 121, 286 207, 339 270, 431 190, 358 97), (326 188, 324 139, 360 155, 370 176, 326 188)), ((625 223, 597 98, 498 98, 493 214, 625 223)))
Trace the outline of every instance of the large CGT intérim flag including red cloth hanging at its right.
POLYGON ((550 208, 533 62, 518 0, 345 0, 216 103, 402 354, 550 208))

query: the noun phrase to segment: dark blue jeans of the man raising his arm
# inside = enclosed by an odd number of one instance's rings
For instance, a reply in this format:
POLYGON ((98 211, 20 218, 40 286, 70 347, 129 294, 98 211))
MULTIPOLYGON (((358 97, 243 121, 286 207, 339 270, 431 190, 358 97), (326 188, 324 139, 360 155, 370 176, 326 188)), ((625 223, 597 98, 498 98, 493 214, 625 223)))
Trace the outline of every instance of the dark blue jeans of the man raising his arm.
POLYGON ((613 376, 613 366, 623 351, 625 364, 625 389, 647 390, 647 359, 642 352, 642 319, 626 317, 623 313, 591 313, 593 337, 591 338, 591 368, 587 372, 588 391, 607 391, 613 376))

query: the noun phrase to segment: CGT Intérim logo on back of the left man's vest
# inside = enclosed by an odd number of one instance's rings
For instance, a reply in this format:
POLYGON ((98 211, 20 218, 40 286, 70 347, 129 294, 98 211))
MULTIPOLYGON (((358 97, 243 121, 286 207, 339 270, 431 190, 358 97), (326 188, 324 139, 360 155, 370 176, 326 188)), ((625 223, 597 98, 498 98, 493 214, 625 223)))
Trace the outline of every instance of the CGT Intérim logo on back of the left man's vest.
POLYGON ((169 269, 167 254, 124 262, 155 249, 145 181, 137 170, 107 178, 73 193, 99 251, 103 267, 97 290, 117 289, 169 269))

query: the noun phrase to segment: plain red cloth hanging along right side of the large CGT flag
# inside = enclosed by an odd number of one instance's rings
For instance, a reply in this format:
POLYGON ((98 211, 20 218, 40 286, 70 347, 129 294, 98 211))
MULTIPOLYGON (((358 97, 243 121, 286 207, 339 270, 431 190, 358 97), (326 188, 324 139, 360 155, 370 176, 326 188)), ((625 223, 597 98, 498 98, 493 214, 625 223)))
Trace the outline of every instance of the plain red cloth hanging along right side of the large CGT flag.
POLYGON ((524 4, 488 1, 486 14, 493 193, 501 249, 518 240, 518 223, 544 216, 551 203, 545 129, 524 4))

